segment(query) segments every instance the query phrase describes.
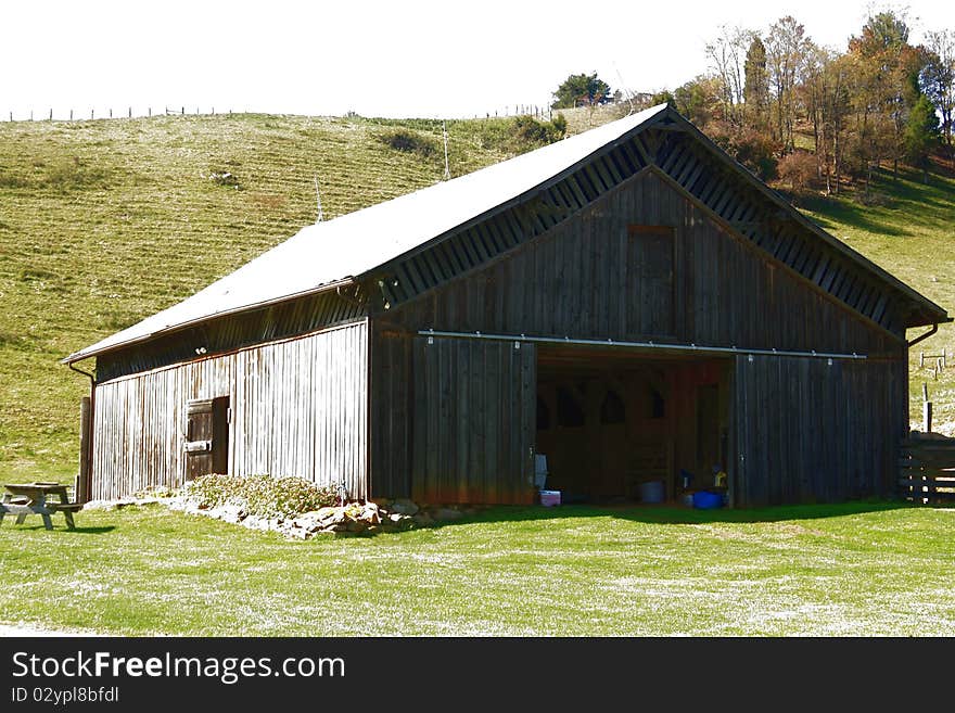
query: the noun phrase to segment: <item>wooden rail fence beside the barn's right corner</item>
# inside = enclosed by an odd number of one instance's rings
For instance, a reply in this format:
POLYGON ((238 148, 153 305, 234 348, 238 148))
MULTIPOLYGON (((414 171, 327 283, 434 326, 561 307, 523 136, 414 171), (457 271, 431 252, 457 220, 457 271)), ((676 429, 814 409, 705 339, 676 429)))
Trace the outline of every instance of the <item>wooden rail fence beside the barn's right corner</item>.
POLYGON ((902 442, 899 494, 920 505, 955 502, 955 438, 902 442))

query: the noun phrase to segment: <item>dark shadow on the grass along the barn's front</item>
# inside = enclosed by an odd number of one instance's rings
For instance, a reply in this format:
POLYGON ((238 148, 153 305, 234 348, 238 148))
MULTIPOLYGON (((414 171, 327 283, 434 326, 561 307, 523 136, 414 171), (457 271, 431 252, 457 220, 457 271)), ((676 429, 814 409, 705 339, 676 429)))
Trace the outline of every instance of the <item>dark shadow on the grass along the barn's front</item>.
MULTIPOLYGON (((702 510, 678 505, 561 505, 543 506, 494 506, 478 514, 438 522, 432 527, 480 522, 518 522, 532 520, 563 520, 571 518, 620 518, 633 522, 655 524, 704 524, 713 522, 780 522, 785 520, 818 520, 820 518, 842 518, 867 512, 883 512, 904 508, 926 506, 897 500, 860 500, 835 505, 791 505, 766 508, 716 508, 702 510)), ((938 506, 931 506, 938 507, 938 506)))

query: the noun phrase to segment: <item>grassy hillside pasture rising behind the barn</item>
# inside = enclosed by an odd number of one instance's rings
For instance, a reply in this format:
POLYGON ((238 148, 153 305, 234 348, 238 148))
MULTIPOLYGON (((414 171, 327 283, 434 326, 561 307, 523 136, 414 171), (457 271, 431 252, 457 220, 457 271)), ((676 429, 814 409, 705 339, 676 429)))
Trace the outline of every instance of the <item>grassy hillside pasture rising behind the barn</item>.
MULTIPOLYGON (((570 114, 572 130, 614 117, 570 114)), ((453 175, 518 148, 505 119, 447 128, 453 175)), ((59 359, 311 222, 316 174, 324 215, 334 217, 429 186, 443 173, 441 127, 423 119, 245 114, 0 124, 5 476, 72 478, 88 382, 59 359)), ((955 182, 935 178, 924 187, 917 178, 881 186, 882 206, 843 199, 815 203, 810 214, 953 308, 955 182)), ((955 352, 955 330, 944 328, 917 349, 937 353, 943 344, 955 352)), ((913 372, 913 391, 920 393, 928 373, 913 372)), ((955 429, 955 379, 931 387, 940 420, 955 429)))

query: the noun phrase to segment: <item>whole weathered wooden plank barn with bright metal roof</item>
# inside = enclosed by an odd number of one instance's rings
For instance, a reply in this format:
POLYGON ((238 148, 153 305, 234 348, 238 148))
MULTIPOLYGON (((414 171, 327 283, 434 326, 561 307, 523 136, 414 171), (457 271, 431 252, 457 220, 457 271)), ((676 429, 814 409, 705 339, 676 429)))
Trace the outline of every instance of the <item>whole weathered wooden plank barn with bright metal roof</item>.
POLYGON ((96 359, 80 497, 228 472, 522 504, 537 455, 565 500, 720 471, 737 507, 890 496, 906 329, 944 321, 660 105, 304 228, 66 357, 96 359))

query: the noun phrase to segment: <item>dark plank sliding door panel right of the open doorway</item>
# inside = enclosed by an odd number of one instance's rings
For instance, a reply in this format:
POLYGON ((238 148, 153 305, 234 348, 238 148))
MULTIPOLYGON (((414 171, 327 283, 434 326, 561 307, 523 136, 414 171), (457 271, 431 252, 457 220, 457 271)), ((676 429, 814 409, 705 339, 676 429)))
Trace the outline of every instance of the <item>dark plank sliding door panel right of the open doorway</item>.
POLYGON ((888 497, 907 432, 904 361, 739 356, 739 506, 888 497))

